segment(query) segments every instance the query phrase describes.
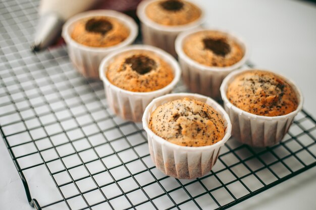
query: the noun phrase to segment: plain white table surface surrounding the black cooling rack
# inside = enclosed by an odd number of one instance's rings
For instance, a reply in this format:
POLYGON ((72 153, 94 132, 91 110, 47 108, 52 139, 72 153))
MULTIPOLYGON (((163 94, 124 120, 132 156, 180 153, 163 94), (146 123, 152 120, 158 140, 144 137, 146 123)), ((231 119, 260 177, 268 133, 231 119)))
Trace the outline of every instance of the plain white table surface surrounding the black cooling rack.
MULTIPOLYGON (((304 95, 304 109, 316 116, 316 5, 292 0, 196 1, 206 25, 243 36, 250 60, 292 79, 304 95)), ((0 141, 0 209, 33 209, 3 141, 0 141)), ((316 167, 262 192, 232 209, 315 209, 316 167)))

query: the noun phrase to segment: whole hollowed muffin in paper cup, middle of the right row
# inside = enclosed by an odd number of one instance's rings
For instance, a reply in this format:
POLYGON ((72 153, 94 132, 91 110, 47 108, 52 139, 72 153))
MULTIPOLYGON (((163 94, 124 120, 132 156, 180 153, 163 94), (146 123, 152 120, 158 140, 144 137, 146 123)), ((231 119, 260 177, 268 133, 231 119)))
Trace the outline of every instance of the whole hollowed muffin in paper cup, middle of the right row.
POLYGON ((223 79, 241 68, 248 58, 245 42, 231 32, 197 29, 181 33, 175 43, 190 91, 220 98, 223 79))

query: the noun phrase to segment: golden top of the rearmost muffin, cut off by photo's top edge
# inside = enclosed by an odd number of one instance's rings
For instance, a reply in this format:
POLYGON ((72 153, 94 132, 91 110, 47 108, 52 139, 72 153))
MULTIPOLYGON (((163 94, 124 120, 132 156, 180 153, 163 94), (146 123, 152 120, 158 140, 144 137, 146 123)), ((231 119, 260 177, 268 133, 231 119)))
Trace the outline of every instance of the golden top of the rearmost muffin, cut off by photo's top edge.
POLYGON ((159 0, 150 3, 145 10, 152 21, 166 26, 191 23, 201 16, 201 10, 192 3, 180 0, 159 0))

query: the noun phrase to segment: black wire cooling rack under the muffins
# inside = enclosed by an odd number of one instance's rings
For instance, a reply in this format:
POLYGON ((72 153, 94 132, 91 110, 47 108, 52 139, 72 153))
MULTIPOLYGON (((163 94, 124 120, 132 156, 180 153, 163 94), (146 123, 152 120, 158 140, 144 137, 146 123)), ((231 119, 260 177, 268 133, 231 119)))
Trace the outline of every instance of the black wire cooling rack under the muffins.
POLYGON ((150 160, 141 123, 116 117, 102 83, 77 74, 65 47, 30 52, 38 3, 0 4, 0 130, 36 209, 227 208, 316 165, 316 121, 303 110, 276 146, 231 139, 204 177, 165 176, 150 160), (48 176, 36 183, 40 198, 28 185, 33 170, 48 176))

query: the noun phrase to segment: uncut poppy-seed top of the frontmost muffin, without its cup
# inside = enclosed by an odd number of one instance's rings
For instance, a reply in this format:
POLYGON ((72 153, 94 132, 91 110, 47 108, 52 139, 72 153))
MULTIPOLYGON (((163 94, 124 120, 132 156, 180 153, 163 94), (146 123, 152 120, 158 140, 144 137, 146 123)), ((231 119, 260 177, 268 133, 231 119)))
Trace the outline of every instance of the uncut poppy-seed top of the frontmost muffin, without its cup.
POLYGON ((211 106, 189 98, 157 107, 149 128, 166 141, 186 147, 213 145, 225 135, 222 116, 211 106))

